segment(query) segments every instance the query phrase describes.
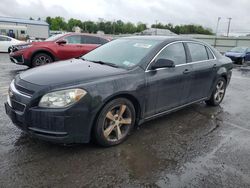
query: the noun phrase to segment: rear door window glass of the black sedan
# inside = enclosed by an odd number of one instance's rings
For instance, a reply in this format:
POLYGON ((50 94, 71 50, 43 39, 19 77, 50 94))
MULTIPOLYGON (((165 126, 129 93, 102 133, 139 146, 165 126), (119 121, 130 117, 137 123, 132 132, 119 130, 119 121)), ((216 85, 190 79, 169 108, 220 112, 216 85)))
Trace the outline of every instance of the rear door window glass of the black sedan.
POLYGON ((190 51, 192 62, 208 60, 206 47, 202 44, 187 43, 190 51))

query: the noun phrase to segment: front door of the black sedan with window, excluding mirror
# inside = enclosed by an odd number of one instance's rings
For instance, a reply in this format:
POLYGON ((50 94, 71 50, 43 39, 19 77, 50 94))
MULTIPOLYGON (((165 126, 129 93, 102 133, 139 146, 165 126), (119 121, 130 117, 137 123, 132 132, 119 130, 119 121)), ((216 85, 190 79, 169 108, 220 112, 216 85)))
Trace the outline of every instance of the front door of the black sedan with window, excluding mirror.
POLYGON ((191 84, 192 66, 187 64, 182 42, 173 43, 163 49, 157 59, 174 61, 175 67, 146 71, 148 85, 146 116, 161 113, 185 103, 191 84))

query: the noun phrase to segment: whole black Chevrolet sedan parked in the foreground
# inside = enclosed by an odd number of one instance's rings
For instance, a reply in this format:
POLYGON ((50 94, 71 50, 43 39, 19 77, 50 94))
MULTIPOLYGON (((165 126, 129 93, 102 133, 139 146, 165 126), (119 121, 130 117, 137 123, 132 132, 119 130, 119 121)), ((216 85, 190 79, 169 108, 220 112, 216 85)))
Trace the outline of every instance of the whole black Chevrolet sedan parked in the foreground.
POLYGON ((135 124, 201 101, 219 105, 231 74, 231 60, 200 41, 121 38, 16 76, 5 108, 31 136, 112 146, 135 124))

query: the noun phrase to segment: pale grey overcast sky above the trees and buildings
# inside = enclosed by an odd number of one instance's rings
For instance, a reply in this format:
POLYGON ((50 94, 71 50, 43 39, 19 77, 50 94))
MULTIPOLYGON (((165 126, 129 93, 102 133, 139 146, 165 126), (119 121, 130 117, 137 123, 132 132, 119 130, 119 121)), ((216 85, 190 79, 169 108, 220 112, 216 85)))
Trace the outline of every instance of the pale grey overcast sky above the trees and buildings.
POLYGON ((250 33, 249 0, 1 0, 0 16, 45 19, 46 16, 71 17, 81 20, 142 21, 200 24, 226 32, 232 17, 231 32, 250 33))

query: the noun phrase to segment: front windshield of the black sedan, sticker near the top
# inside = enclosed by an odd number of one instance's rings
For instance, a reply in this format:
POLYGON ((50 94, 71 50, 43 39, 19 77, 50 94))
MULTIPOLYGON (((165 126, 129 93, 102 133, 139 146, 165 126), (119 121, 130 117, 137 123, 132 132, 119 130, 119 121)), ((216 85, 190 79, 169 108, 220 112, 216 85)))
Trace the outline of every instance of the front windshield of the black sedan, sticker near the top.
POLYGON ((137 65, 159 42, 150 39, 117 39, 91 51, 82 58, 87 61, 102 61, 118 67, 130 68, 137 65))

